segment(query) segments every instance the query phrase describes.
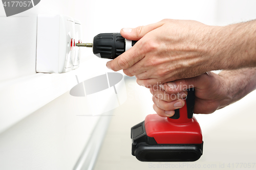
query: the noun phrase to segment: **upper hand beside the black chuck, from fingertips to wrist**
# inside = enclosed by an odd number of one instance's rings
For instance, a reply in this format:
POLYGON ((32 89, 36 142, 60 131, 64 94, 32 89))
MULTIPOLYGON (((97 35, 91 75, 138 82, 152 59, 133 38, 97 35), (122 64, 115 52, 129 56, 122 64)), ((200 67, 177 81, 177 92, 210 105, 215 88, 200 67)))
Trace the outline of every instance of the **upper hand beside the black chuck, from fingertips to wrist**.
POLYGON ((193 20, 164 19, 122 29, 124 38, 139 41, 107 67, 123 69, 125 75, 136 76, 137 83, 145 86, 201 75, 207 71, 203 63, 210 64, 205 41, 212 28, 193 20))

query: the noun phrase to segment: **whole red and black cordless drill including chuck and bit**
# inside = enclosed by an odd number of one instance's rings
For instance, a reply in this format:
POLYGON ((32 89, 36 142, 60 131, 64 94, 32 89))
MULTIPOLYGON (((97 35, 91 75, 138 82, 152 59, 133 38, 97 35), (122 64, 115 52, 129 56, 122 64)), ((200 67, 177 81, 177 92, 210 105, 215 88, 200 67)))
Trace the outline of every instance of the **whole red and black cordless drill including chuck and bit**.
MULTIPOLYGON (((120 33, 104 33, 94 37, 93 43, 77 46, 93 47, 100 58, 115 59, 137 41, 127 40, 120 33)), ((187 89, 185 105, 172 117, 147 115, 131 129, 132 155, 140 161, 178 162, 196 161, 203 154, 202 131, 194 113, 195 90, 187 89)))

